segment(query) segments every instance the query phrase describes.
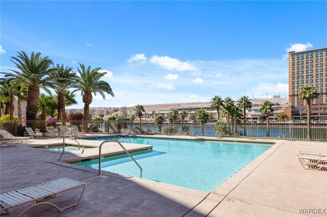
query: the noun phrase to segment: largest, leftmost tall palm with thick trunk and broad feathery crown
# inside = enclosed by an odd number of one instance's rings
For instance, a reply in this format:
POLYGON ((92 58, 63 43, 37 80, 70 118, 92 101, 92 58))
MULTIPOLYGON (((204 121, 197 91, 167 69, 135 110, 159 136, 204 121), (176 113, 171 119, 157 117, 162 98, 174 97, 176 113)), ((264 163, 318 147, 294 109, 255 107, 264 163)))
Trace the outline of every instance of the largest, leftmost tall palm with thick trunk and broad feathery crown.
MULTIPOLYGON (((26 52, 18 52, 17 57, 11 57, 17 69, 9 69, 12 73, 2 72, 10 81, 19 82, 27 86, 27 120, 35 120, 37 114, 37 104, 39 102, 40 88, 51 94, 49 88, 55 88, 55 77, 51 76, 54 69, 52 60, 48 57, 41 57, 41 53, 32 51, 29 57, 26 52)), ((60 86, 60 83, 57 83, 60 86)))

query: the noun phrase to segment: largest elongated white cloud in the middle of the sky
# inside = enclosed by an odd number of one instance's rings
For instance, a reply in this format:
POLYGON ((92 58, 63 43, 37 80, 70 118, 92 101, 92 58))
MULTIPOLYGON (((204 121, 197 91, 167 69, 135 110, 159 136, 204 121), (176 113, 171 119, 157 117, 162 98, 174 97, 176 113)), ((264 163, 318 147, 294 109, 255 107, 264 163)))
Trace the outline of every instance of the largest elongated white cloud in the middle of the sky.
POLYGON ((176 71, 196 71, 197 68, 192 66, 189 62, 183 62, 168 56, 152 56, 150 59, 152 64, 164 67, 167 70, 176 71))

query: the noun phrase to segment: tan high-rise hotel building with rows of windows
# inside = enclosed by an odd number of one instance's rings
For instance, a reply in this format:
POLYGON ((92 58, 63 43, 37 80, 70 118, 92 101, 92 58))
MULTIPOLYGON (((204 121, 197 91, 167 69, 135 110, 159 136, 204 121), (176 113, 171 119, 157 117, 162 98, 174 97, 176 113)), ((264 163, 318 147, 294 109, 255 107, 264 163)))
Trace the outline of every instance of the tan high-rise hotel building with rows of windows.
POLYGON ((327 47, 289 52, 289 104, 286 115, 306 118, 306 101, 298 98, 302 86, 317 87, 319 97, 312 102, 312 118, 327 118, 327 47))

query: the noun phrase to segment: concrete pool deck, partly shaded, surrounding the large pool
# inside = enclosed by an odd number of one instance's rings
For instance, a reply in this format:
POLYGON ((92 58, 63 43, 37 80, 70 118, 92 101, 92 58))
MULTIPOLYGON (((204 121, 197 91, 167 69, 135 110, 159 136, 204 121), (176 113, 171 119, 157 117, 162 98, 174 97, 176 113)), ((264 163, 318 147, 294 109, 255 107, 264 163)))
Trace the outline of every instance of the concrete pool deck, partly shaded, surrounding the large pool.
MULTIPOLYGON (((39 139, 28 144, 50 141, 39 139)), ((327 143, 256 142, 276 144, 211 193, 106 171, 100 177, 97 170, 58 161, 61 153, 26 147, 28 144, 0 149, 0 189, 6 193, 61 177, 87 183, 78 207, 58 213, 53 207, 38 206, 27 216, 315 216, 300 214, 299 209, 327 208, 327 172, 305 170, 296 158, 300 150, 327 152, 327 143)), ((78 156, 69 153, 61 159, 74 158, 72 155, 78 156)), ((68 191, 52 201, 64 206, 78 196, 68 191)), ((16 216, 25 207, 12 208, 9 216, 16 216)), ((326 211, 322 215, 326 216, 326 211)))

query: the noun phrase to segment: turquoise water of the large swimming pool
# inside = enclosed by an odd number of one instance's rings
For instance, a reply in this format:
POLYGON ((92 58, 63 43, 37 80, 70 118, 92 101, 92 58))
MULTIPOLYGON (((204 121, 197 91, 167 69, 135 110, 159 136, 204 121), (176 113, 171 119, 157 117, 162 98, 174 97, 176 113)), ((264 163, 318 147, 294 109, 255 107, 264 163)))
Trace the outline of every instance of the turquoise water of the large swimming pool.
MULTIPOLYGON (((143 168, 144 179, 210 192, 254 158, 269 149, 267 144, 194 141, 139 137, 107 137, 123 143, 153 145, 153 150, 132 153, 143 168)), ((108 144, 110 145, 110 143, 108 144)), ((125 154, 102 159, 102 170, 140 176, 139 168, 125 154)), ((98 160, 76 165, 98 169, 98 160)))

